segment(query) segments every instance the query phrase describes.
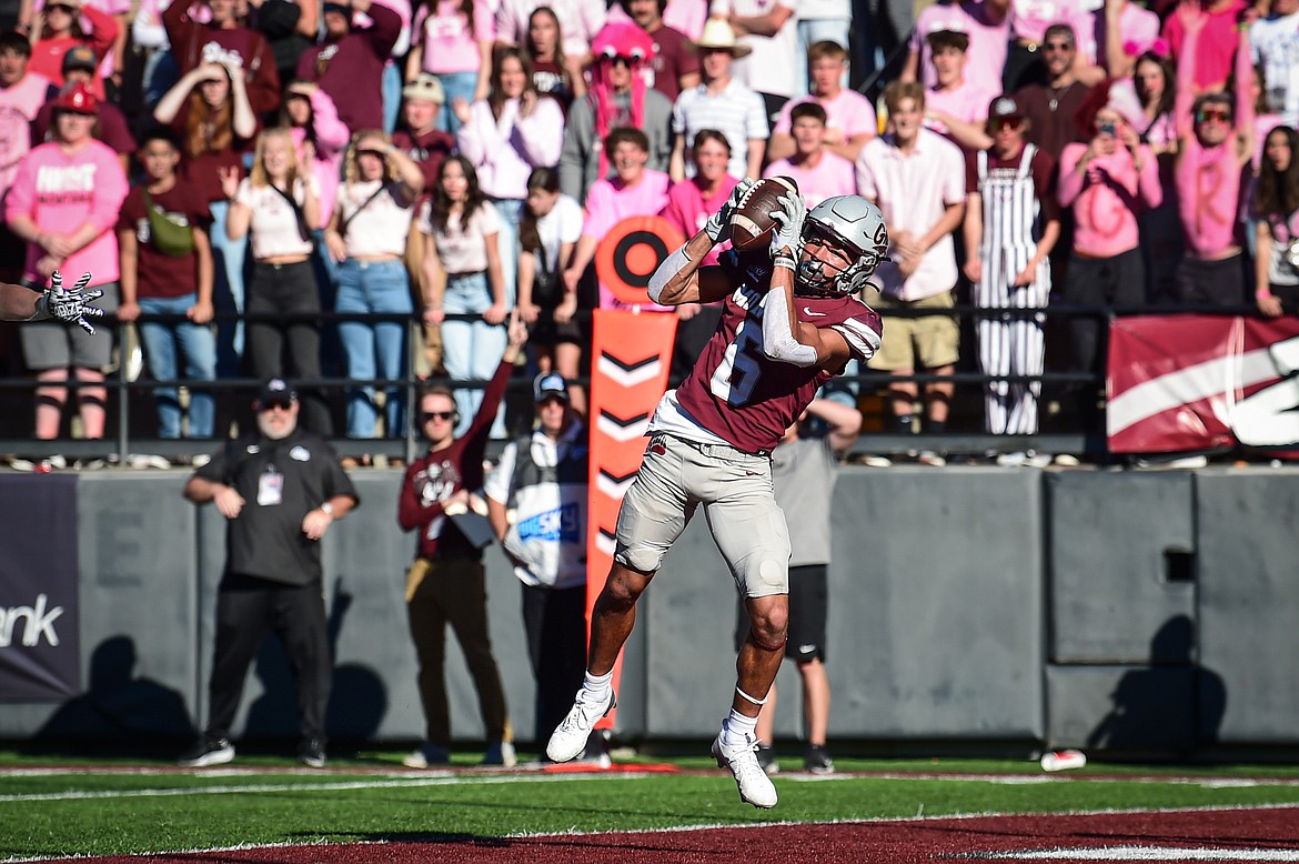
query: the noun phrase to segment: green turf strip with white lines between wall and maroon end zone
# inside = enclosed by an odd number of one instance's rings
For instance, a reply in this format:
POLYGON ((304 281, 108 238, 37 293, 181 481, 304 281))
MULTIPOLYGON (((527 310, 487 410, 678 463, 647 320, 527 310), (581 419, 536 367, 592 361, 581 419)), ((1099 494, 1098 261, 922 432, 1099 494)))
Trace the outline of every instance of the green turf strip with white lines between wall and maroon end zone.
MULTIPOLYGON (((459 759, 457 768, 474 764, 459 759)), ((833 777, 778 774, 781 803, 760 812, 709 760, 672 764, 682 772, 412 772, 400 754, 385 752, 331 759, 321 772, 242 755, 221 769, 178 772, 161 760, 0 752, 0 861, 435 834, 1299 804, 1299 767, 1094 763, 1046 774, 1029 761, 837 759, 833 777)))

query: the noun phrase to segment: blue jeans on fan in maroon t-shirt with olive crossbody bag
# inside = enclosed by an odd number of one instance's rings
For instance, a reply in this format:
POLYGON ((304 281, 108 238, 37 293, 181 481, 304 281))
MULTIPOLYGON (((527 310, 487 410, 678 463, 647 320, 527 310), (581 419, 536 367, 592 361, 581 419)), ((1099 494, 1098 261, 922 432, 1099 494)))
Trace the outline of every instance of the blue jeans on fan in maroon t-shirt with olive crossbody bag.
MULTIPOLYGON (((140 298, 140 312, 152 314, 184 314, 195 304, 196 295, 179 298, 140 298)), ((140 340, 149 374, 156 382, 173 386, 153 390, 158 405, 158 437, 181 437, 181 399, 173 382, 177 378, 177 348, 184 355, 184 377, 194 381, 214 381, 217 377, 217 340, 207 324, 140 322, 140 340)), ((190 390, 188 438, 212 438, 216 418, 214 399, 207 390, 190 390)))

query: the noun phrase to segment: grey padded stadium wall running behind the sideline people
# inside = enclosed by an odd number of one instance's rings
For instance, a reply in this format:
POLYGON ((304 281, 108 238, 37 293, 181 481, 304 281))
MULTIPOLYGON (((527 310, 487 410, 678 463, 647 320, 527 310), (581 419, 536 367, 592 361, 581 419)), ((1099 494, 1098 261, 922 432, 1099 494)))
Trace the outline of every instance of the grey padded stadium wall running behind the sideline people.
MULTIPOLYGON (((0 702, 0 738, 181 739, 203 722, 225 525, 213 508, 183 502, 184 477, 78 478, 86 694, 0 702)), ((325 539, 330 734, 417 741, 403 600, 414 538, 395 520, 400 474, 355 479, 362 504, 325 539)), ((1126 752, 1294 743, 1296 481, 1293 469, 843 469, 830 568, 831 737, 1126 752)), ((487 568, 495 655, 517 735, 529 741, 520 587, 495 547, 487 568)), ((716 731, 734 683, 735 612, 700 513, 643 602, 624 664, 621 735, 716 731)), ((481 741, 451 634, 447 677, 456 738, 481 741)), ((777 734, 798 735, 792 664, 778 685, 777 734)), ((235 734, 296 734, 274 641, 248 677, 235 734)))

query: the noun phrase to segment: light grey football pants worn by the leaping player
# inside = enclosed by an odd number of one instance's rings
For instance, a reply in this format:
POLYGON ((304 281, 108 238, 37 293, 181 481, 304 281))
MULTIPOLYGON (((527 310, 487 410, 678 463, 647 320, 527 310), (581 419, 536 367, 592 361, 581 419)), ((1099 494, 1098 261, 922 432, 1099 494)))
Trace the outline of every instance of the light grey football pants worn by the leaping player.
POLYGON ((772 460, 727 446, 650 439, 618 511, 614 560, 656 572, 700 504, 744 596, 788 594, 790 531, 776 504, 772 460))

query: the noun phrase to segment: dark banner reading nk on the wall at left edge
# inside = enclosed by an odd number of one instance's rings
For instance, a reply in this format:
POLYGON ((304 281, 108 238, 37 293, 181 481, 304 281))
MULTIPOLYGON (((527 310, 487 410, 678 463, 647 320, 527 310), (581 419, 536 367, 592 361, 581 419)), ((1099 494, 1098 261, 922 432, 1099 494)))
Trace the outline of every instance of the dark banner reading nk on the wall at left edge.
POLYGON ((0 478, 0 699, 81 692, 77 478, 0 478))

